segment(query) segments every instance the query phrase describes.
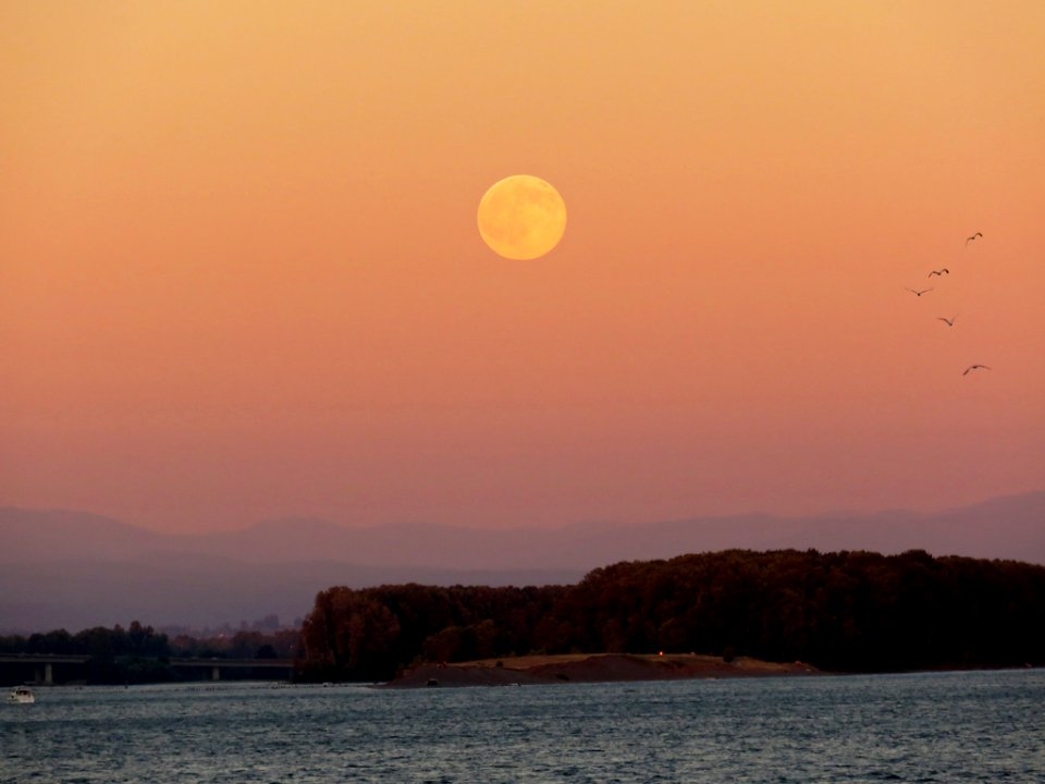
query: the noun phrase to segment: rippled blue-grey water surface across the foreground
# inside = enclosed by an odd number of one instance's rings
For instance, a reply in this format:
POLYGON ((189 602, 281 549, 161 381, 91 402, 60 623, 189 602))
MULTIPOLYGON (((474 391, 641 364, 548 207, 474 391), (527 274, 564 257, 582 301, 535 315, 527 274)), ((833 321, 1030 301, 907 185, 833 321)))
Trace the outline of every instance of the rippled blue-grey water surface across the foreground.
POLYGON ((36 689, 0 782, 1045 782, 1045 672, 36 689))

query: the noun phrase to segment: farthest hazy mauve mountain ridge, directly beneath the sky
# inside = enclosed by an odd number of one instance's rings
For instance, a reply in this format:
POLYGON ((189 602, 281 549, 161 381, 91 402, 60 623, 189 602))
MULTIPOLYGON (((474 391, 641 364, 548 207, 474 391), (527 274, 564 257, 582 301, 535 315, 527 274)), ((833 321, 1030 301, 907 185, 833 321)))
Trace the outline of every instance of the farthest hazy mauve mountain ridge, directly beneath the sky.
POLYGON ((1045 492, 934 514, 752 514, 623 525, 476 529, 423 523, 346 527, 272 519, 207 535, 165 535, 98 515, 0 509, 0 563, 201 554, 244 563, 336 561, 443 569, 589 569, 622 560, 729 548, 902 552, 924 549, 1045 563, 1045 492))

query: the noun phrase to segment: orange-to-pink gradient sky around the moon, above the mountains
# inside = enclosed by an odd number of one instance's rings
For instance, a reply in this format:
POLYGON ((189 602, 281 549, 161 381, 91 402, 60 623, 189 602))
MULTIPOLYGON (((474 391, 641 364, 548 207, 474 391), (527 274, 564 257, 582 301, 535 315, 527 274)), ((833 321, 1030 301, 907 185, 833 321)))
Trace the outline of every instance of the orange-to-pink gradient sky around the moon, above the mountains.
POLYGON ((1043 41, 1038 0, 4 0, 0 504, 503 527, 1042 489, 1043 41), (569 211, 532 261, 476 228, 516 173, 569 211))

